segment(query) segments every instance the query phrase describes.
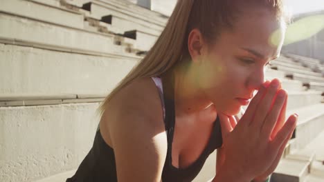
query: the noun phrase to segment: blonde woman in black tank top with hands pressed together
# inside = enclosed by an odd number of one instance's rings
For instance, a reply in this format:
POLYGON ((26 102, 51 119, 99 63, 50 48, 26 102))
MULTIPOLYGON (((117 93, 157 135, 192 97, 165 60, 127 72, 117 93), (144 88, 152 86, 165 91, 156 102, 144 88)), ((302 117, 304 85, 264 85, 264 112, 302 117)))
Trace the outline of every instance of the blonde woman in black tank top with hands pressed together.
POLYGON ((280 81, 264 82, 284 34, 280 0, 179 0, 67 181, 192 181, 217 148, 213 181, 269 180, 297 120, 280 81))

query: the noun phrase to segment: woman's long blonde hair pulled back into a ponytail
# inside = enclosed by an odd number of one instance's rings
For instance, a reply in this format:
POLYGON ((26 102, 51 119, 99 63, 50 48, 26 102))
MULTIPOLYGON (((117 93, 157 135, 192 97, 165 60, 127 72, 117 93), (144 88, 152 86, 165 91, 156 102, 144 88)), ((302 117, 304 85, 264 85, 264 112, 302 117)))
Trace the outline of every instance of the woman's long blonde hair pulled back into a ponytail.
POLYGON ((99 108, 100 114, 105 112, 111 97, 134 79, 160 76, 190 59, 187 42, 192 29, 199 29, 204 39, 212 43, 222 28, 232 27, 242 5, 251 4, 265 6, 279 16, 282 14, 281 0, 178 0, 159 39, 105 98, 99 108))

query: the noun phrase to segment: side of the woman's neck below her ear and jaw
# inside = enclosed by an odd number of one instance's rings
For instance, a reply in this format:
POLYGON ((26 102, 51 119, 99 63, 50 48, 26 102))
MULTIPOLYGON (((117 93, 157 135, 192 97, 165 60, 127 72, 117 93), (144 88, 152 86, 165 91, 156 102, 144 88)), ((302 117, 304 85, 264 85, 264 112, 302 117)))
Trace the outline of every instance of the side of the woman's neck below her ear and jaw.
POLYGON ((199 89, 196 78, 190 66, 174 70, 174 107, 177 115, 195 114, 212 105, 199 89))

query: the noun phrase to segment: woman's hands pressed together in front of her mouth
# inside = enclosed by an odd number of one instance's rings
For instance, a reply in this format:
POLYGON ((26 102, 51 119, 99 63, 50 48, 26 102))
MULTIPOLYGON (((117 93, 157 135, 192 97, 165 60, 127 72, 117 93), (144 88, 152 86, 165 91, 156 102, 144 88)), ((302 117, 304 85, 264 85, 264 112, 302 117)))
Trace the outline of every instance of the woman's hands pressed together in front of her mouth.
POLYGON ((231 170, 244 181, 263 181, 276 169, 296 128, 297 114, 285 122, 287 92, 280 81, 262 84, 239 122, 218 113, 223 145, 217 149, 217 171, 231 170))

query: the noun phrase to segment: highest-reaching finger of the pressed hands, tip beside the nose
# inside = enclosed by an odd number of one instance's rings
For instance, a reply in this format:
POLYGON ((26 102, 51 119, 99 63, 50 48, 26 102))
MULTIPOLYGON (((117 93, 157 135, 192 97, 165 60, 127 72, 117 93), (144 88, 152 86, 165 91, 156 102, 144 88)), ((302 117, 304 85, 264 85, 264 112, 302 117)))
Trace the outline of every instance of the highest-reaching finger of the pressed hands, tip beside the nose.
POLYGON ((251 125, 255 130, 260 131, 262 125, 264 124, 265 118, 271 108, 273 103, 273 97, 276 96, 276 92, 280 85, 280 81, 278 79, 273 79, 270 83, 269 88, 267 89, 267 93, 264 95, 264 98, 260 101, 258 111, 255 112, 255 117, 251 125))

